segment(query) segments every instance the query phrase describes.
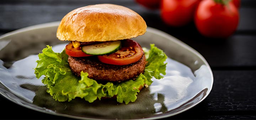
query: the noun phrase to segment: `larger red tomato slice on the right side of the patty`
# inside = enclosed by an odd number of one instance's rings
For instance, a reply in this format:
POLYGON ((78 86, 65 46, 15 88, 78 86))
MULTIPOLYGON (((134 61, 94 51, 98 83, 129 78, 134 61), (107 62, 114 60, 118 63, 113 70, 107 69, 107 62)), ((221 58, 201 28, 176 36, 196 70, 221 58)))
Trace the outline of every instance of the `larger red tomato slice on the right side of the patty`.
POLYGON ((123 40, 122 47, 110 55, 98 55, 101 62, 112 65, 128 65, 137 62, 143 56, 143 49, 133 40, 123 40))

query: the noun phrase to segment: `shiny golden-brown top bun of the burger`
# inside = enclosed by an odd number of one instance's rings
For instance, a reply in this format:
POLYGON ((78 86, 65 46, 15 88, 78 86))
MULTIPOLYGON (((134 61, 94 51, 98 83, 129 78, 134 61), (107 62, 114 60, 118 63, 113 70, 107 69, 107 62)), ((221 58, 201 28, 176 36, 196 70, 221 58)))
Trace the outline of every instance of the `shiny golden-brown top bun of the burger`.
POLYGON ((114 41, 146 32, 144 19, 127 7, 97 4, 77 8, 63 17, 57 37, 62 41, 114 41))

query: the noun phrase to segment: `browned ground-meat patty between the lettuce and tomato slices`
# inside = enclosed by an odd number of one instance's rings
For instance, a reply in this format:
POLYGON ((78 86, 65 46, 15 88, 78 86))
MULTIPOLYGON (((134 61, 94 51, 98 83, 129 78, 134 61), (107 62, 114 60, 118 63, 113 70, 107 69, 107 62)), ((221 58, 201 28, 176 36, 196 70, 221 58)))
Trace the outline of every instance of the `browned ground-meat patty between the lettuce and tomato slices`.
POLYGON ((88 77, 104 82, 120 82, 130 80, 144 73, 147 64, 145 55, 140 60, 129 65, 110 65, 105 64, 97 59, 96 56, 89 57, 68 57, 71 70, 77 76, 81 71, 87 72, 88 77))

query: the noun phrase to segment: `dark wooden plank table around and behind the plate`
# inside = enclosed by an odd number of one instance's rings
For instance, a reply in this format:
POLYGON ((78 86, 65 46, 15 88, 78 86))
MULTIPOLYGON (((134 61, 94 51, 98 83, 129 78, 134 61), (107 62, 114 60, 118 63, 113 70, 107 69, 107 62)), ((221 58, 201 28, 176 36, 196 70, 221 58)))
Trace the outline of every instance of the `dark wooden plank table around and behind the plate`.
MULTIPOLYGON (((167 26, 159 10, 148 10, 133 0, 1 0, 0 35, 59 21, 75 8, 98 3, 131 8, 148 26, 178 38, 208 61, 214 77, 210 95, 192 109, 166 119, 256 119, 256 0, 241 0, 238 29, 226 40, 201 36, 193 23, 167 26)), ((0 107, 0 119, 70 119, 19 106, 2 96, 0 107)))

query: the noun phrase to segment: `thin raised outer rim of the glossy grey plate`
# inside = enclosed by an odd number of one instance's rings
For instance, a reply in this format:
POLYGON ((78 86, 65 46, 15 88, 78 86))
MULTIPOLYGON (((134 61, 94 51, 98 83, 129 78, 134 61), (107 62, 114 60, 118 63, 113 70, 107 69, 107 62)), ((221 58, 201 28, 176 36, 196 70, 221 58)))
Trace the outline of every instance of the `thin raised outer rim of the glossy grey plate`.
MULTIPOLYGON (((21 29, 17 29, 17 30, 14 30, 14 31, 11 31, 11 32, 7 32, 6 34, 3 34, 0 36, 0 40, 4 39, 5 37, 8 37, 8 36, 11 36, 11 35, 15 35, 15 34, 18 34, 20 32, 24 32, 24 31, 30 31, 30 30, 35 30, 35 29, 41 29, 41 28, 49 28, 49 27, 55 27, 55 26, 58 26, 60 23, 60 21, 55 21, 55 22, 49 22, 49 23, 43 23, 43 24, 37 24, 37 25, 32 25, 32 26, 28 26, 28 27, 25 27, 25 28, 21 28, 21 29)), ((170 116, 174 116, 174 115, 177 115, 177 114, 180 114, 182 112, 185 112, 186 110, 188 109, 191 109, 193 108, 194 106, 196 106, 197 104, 201 103, 204 99, 207 98, 207 96, 210 94, 210 92, 212 91, 212 88, 213 88, 213 82, 214 82, 214 78, 213 78, 213 73, 212 73, 212 70, 208 64, 208 62, 206 61, 206 59, 199 53, 197 52, 195 49, 193 49, 192 47, 188 46, 186 43, 178 40, 176 37, 170 35, 170 34, 167 34, 166 32, 164 31, 161 31, 161 30, 158 30, 158 29, 155 29, 155 28, 151 28, 151 27, 147 27, 147 31, 154 31, 154 33, 162 36, 162 37, 165 37, 166 39, 172 41, 172 42, 175 42, 176 44, 179 44, 180 46, 182 46, 183 48, 189 50, 190 52, 194 53, 196 56, 199 57, 199 59, 201 59, 203 61, 203 64, 206 65, 206 67, 208 68, 209 72, 210 72, 210 82, 211 82, 211 85, 210 85, 210 88, 208 88, 208 91, 206 93, 206 95, 201 99, 199 100, 197 103, 193 104, 192 106, 188 107, 188 108, 185 108, 185 109, 182 109, 176 113, 172 113, 172 114, 166 114, 166 115, 162 115, 162 116, 151 116, 150 118, 142 118, 142 119, 139 119, 139 120, 153 120, 153 119, 161 119, 161 118, 167 118, 167 117, 170 117, 170 116)), ((0 82, 0 84, 2 85, 2 83, 0 82)), ((3 85, 4 86, 4 85, 3 85)), ((3 88, 1 88, 1 90, 4 90, 6 92, 8 92, 8 94, 12 94, 14 95, 15 97, 17 98, 20 98, 18 97, 17 95, 15 95, 14 93, 12 93, 11 91, 7 91, 3 88)), ((64 116, 64 117, 68 117, 68 118, 74 118, 74 119, 91 119, 91 120, 103 120, 103 119, 97 119, 97 118, 85 118, 85 117, 80 117, 80 116, 74 116, 74 115, 68 115, 68 114, 61 114, 61 113, 53 113, 53 112, 50 112, 50 110, 42 110, 42 109, 39 109, 38 106, 37 107, 31 107, 31 106, 26 106, 25 104, 21 103, 21 102, 17 102, 16 100, 14 100, 13 98, 9 97, 9 95, 5 95, 3 94, 2 92, 0 92, 0 95, 5 97, 7 100, 10 100, 22 107, 26 107, 28 109, 32 109, 32 110, 36 110, 38 112, 42 112, 42 113, 46 113, 46 114, 51 114, 51 115, 58 115, 58 116, 64 116)), ((23 100, 22 98, 20 98, 21 100, 23 100)), ((23 100, 23 101, 26 101, 26 100, 23 100)), ((27 101, 26 101, 27 102, 27 101)), ((31 104, 31 103, 30 103, 31 104)), ((40 107, 41 108, 41 107, 40 107)), ((164 114, 164 113, 163 113, 164 114)), ((129 119, 129 120, 134 120, 134 119, 129 119)))

